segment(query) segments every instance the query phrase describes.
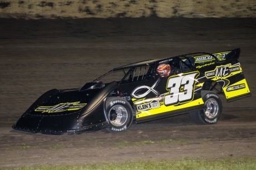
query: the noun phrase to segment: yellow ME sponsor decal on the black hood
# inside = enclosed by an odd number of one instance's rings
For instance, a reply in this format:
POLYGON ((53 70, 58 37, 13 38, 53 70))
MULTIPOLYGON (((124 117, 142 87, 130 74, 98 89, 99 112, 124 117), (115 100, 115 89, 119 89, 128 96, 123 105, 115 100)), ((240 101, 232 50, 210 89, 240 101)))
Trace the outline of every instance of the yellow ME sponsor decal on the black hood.
POLYGON ((40 106, 35 109, 37 112, 42 113, 56 113, 64 111, 76 111, 86 106, 87 103, 73 102, 73 103, 60 103, 55 106, 40 106))

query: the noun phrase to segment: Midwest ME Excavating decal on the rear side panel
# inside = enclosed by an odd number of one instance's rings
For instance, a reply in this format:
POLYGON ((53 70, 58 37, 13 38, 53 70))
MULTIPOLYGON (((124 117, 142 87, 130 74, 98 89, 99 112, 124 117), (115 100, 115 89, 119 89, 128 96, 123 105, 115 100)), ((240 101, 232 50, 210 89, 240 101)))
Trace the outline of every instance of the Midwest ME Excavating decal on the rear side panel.
POLYGON ((215 78, 216 81, 223 81, 223 87, 226 87, 228 86, 229 81, 225 78, 233 76, 234 72, 240 71, 242 71, 242 69, 239 65, 231 66, 231 64, 227 64, 224 66, 217 66, 213 71, 205 72, 205 76, 206 78, 215 78))

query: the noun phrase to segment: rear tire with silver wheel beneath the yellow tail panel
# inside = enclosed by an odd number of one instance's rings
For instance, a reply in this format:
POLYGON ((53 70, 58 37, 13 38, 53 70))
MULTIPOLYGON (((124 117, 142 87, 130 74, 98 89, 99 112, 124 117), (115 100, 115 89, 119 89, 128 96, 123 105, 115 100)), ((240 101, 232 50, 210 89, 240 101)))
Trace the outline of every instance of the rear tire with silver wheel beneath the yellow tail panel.
POLYGON ((201 91, 206 109, 190 112, 190 119, 197 124, 214 124, 222 113, 222 102, 218 94, 211 91, 201 91))

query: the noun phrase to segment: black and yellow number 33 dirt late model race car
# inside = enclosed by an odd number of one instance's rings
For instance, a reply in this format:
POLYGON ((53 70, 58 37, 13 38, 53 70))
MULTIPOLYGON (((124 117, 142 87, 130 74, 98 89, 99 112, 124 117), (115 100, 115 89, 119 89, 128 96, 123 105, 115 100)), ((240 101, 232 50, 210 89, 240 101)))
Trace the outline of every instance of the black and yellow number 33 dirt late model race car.
POLYGON ((195 123, 214 124, 222 112, 219 94, 228 102, 251 95, 239 54, 239 48, 199 52, 117 67, 82 88, 51 89, 13 128, 46 134, 120 132, 134 119, 140 123, 184 113, 195 123), (119 81, 102 82, 120 74, 119 81))

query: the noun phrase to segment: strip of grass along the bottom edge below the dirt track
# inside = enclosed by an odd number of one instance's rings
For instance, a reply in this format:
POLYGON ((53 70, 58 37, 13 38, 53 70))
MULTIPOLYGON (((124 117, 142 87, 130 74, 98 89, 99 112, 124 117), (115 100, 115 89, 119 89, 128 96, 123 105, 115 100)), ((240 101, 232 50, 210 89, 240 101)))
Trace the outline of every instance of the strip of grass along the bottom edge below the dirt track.
MULTIPOLYGON (((129 161, 126 163, 97 163, 88 166, 35 166, 35 167, 21 167, 11 168, 16 170, 31 170, 31 169, 42 169, 42 170, 95 170, 95 169, 138 169, 138 170, 151 170, 151 169, 163 169, 163 170, 250 170, 255 169, 256 158, 233 158, 233 159, 217 159, 213 161, 203 159, 184 159, 181 161, 129 161)), ((7 168, 3 168, 7 169, 7 168)), ((9 169, 9 168, 8 168, 9 169)))

